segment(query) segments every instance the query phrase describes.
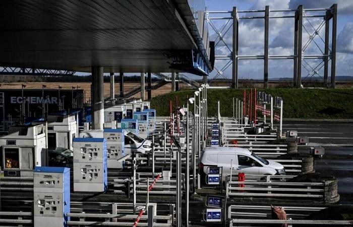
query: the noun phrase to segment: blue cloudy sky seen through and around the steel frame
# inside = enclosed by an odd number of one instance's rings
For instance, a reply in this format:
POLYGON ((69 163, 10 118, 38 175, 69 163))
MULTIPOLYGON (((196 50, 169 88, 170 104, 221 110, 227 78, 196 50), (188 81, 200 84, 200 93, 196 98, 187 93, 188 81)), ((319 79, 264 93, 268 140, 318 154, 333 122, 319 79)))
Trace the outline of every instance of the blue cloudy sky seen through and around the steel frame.
MULTIPOLYGON (((231 11, 233 6, 238 10, 265 9, 269 6, 270 10, 275 9, 297 9, 299 5, 303 8, 329 8, 332 4, 338 4, 337 17, 337 76, 353 76, 353 0, 206 0, 208 11, 231 11)), ((323 12, 314 12, 316 15, 322 15, 323 12)), ((293 12, 277 13, 270 12, 270 16, 292 15, 293 12)), ((312 15, 311 12, 305 12, 306 15, 312 15)), ((226 17, 226 14, 211 14, 211 17, 226 17)), ((260 14, 240 14, 240 16, 263 16, 260 14)), ((325 26, 321 24, 322 18, 303 18, 303 54, 322 54, 324 51, 325 26), (323 25, 321 30, 313 38, 309 45, 305 45, 310 35, 315 33, 315 29, 323 25), (314 28, 313 28, 314 27, 314 28), (310 35, 309 35, 310 34, 310 35), (315 42, 314 42, 315 41, 315 42), (320 50, 320 48, 321 50, 320 50)), ((331 20, 332 21, 332 20, 331 20)), ((212 20, 212 23, 218 31, 220 31, 227 20, 212 20)), ((222 34, 231 26, 231 21, 227 24, 222 34)), ((330 32, 332 25, 330 24, 330 32)), ((214 30, 209 25, 211 40, 219 41, 214 30)), ((216 55, 229 55, 230 51, 227 46, 232 46, 232 29, 224 34, 224 42, 218 42, 216 46, 216 55)), ((270 19, 269 20, 269 54, 293 54, 294 40, 294 19, 270 19)), ((263 54, 264 42, 264 19, 241 20, 239 27, 239 55, 263 54)), ((331 38, 330 38, 331 45, 331 38)), ((222 69, 229 60, 218 60, 215 63, 217 69, 222 69)), ((306 60, 302 67, 302 77, 308 76, 311 67, 315 69, 321 60, 306 60), (308 69, 308 70, 307 70, 308 69)), ((329 63, 330 64, 330 63, 329 63)), ((318 67, 317 69, 319 69, 318 67)), ((329 68, 330 70, 330 68, 329 68)), ((213 78, 217 73, 214 70, 210 74, 213 78)), ((323 67, 317 70, 319 76, 323 77, 323 67)), ((223 71, 223 75, 231 78, 231 66, 223 71)), ((269 78, 292 77, 293 60, 269 60, 269 78)), ((311 74, 308 76, 310 77, 311 74)), ((263 60, 239 60, 239 78, 262 79, 263 78, 263 60)))

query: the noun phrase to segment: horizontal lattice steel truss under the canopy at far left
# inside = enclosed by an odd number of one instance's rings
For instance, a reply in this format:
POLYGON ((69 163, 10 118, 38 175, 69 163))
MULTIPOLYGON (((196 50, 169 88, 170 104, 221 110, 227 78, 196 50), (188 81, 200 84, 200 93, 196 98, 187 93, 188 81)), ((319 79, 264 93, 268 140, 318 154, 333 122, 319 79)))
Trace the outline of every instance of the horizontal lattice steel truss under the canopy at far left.
POLYGON ((25 75, 25 76, 72 76, 76 72, 68 70, 50 70, 19 67, 0 67, 0 75, 25 75))

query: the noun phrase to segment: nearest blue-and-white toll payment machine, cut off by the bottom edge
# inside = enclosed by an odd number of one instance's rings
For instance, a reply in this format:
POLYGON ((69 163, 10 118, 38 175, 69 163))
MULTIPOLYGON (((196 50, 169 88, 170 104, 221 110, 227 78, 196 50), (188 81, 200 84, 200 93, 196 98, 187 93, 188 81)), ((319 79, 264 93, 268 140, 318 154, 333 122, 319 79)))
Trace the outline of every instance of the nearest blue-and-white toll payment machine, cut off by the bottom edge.
POLYGON ((37 166, 33 173, 34 226, 67 227, 70 168, 37 166))

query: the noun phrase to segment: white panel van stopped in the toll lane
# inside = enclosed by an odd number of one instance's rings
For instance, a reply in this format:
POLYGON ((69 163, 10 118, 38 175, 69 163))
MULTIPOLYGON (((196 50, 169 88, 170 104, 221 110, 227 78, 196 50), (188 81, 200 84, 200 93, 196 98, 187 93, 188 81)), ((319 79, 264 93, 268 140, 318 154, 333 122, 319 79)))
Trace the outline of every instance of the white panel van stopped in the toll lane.
MULTIPOLYGON (((200 172, 207 175, 209 167, 222 167, 222 181, 230 175, 285 175, 282 164, 268 161, 259 155, 240 147, 206 147, 200 163, 200 172)), ((228 178, 229 179, 229 178, 228 178)))

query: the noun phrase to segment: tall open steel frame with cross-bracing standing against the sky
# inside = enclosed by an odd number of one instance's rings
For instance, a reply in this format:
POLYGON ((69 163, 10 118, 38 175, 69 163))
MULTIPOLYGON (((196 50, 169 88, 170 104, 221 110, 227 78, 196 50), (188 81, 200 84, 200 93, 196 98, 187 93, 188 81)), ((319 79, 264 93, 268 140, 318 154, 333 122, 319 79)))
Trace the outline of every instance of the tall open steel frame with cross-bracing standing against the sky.
POLYGON ((295 10, 270 10, 269 6, 265 7, 265 10, 245 10, 238 11, 237 7, 233 7, 232 11, 206 11, 207 22, 212 30, 217 35, 215 40, 215 47, 220 43, 224 43, 225 47, 229 50, 229 55, 215 55, 216 60, 228 60, 227 63, 221 68, 217 69, 216 76, 223 77, 226 79, 232 88, 238 88, 238 60, 264 60, 264 88, 268 87, 268 60, 278 59, 292 59, 293 60, 293 84, 295 87, 300 88, 302 82, 308 79, 321 78, 325 85, 328 85, 328 67, 329 60, 331 60, 331 88, 335 87, 336 79, 336 34, 337 34, 337 4, 333 4, 328 9, 303 9, 300 5, 295 10), (271 16, 271 12, 283 12, 287 13, 282 16, 271 16), (293 15, 289 15, 293 12, 293 15), (311 12, 310 15, 307 13, 311 12), (318 12, 318 13, 316 13, 318 12), (264 16, 239 16, 244 13, 264 13, 264 16), (211 14, 230 14, 230 17, 211 17, 211 14), (295 32, 294 32, 294 51, 290 55, 269 55, 268 54, 268 41, 269 41, 269 19, 274 18, 293 18, 295 19, 295 32), (309 20, 309 18, 323 18, 323 21, 318 27, 315 27, 309 20), (264 19, 264 54, 263 55, 239 55, 239 21, 246 19, 264 19), (331 46, 329 46, 330 36, 330 20, 332 19, 332 32, 331 32, 331 46), (227 20, 227 22, 220 29, 217 29, 214 20, 227 20), (303 20, 307 21, 309 26, 305 26, 303 20), (325 27, 325 28, 324 28, 325 27), (230 47, 224 41, 224 35, 232 28, 232 46, 230 47), (325 29, 324 38, 321 37, 320 31, 325 29), (309 39, 303 45, 303 29, 309 35, 309 39), (314 30, 314 32, 311 32, 314 30), (319 40, 314 38, 318 37, 319 40), (324 50, 320 47, 318 42, 323 42, 324 50), (316 45, 320 50, 320 54, 304 54, 310 45, 316 45), (322 60, 315 62, 316 65, 310 63, 308 60, 322 60), (224 71, 232 66, 232 80, 231 82, 224 75, 224 71), (307 70, 307 74, 302 77, 302 67, 307 70), (320 75, 319 70, 324 67, 324 75, 320 75))

